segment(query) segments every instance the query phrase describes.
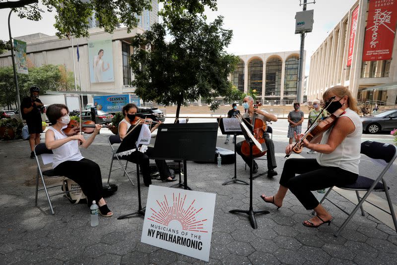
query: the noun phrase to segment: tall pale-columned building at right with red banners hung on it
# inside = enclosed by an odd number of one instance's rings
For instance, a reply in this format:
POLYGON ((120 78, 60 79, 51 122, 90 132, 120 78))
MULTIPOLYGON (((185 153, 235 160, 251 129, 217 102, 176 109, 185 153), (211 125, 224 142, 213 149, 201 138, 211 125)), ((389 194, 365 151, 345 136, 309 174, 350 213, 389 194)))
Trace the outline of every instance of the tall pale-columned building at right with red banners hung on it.
MULTIPOLYGON (((308 100, 320 99, 327 88, 345 86, 358 99, 397 104, 397 60, 363 61, 368 10, 370 4, 377 5, 376 2, 379 2, 377 8, 381 4, 386 7, 393 4, 393 0, 356 1, 313 53, 310 58, 308 100)), ((394 27, 396 31, 396 24, 389 27, 394 27)), ((396 38, 392 52, 396 57, 396 38)))

